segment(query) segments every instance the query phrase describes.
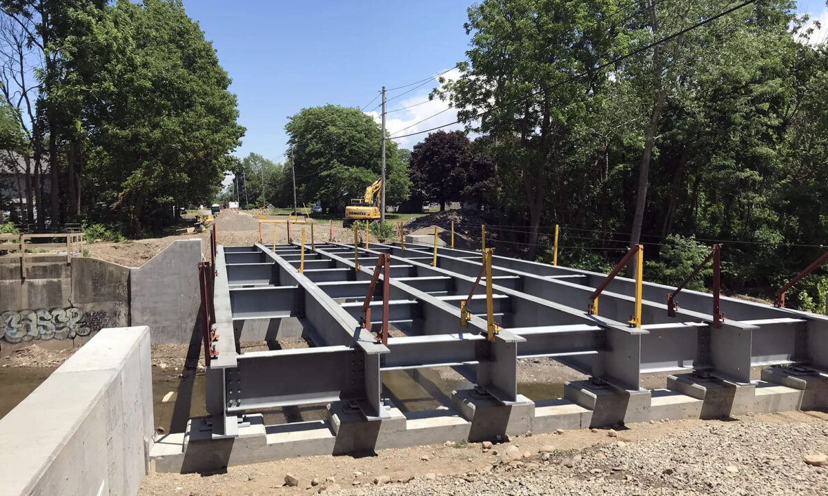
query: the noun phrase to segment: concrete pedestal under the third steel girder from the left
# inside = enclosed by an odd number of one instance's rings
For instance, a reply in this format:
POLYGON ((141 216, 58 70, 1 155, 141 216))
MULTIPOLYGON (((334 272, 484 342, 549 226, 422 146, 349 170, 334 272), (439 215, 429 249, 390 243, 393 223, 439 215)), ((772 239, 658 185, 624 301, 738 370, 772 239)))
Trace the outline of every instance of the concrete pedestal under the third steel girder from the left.
POLYGON ((504 434, 517 436, 532 430, 535 403, 522 394, 515 403, 503 404, 488 393, 461 389, 451 393, 451 401, 460 417, 471 422, 471 442, 497 441, 504 434))

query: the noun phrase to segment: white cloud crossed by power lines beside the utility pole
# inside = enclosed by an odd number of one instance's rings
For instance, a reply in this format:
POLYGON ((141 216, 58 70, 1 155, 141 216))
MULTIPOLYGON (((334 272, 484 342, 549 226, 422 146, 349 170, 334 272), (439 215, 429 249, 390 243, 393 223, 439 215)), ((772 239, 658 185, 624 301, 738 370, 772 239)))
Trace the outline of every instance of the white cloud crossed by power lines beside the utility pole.
MULTIPOLYGON (((460 78, 460 69, 451 69, 443 74, 443 77, 445 79, 458 79, 460 78)), ((426 129, 431 129, 432 127, 443 126, 457 120, 457 111, 454 108, 450 108, 448 102, 444 102, 439 98, 434 98, 433 100, 428 101, 428 93, 431 93, 431 89, 439 85, 440 83, 438 83, 435 79, 434 84, 426 84, 421 89, 407 94, 405 98, 394 99, 386 105, 388 113, 385 118, 385 127, 388 134, 392 137, 392 140, 397 142, 397 145, 411 150, 414 145, 425 140, 429 133, 424 132, 422 134, 402 138, 394 138, 395 134, 408 135, 418 131, 425 131, 426 129), (412 105, 416 105, 416 107, 411 107, 412 105), (402 107, 411 108, 406 108, 405 110, 401 110, 399 112, 392 112, 402 107)), ((391 93, 387 98, 393 98, 393 96, 394 94, 391 93)), ((373 117, 373 120, 377 123, 382 122, 380 112, 371 111, 365 113, 373 117)), ((441 127, 440 129, 443 131, 462 131, 464 126, 462 124, 451 124, 450 126, 441 127)))

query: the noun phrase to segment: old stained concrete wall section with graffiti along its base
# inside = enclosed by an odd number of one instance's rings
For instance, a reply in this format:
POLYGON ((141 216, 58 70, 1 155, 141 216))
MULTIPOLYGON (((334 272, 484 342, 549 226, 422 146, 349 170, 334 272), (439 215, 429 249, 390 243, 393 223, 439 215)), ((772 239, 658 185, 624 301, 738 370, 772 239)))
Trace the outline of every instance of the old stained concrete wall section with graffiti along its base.
POLYGON ((0 263, 0 355, 31 341, 79 346, 103 327, 129 324, 130 269, 93 258, 42 256, 0 263))

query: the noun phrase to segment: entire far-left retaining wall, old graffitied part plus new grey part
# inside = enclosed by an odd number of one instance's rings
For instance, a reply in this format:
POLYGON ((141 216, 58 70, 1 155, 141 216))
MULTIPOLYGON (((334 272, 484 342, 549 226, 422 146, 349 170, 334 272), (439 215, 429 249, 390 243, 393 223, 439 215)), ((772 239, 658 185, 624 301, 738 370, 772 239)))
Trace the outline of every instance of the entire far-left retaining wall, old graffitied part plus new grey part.
POLYGON ((199 321, 199 239, 131 269, 87 257, 0 262, 0 356, 32 341, 81 346, 103 327, 148 326, 152 342, 185 344, 199 321))

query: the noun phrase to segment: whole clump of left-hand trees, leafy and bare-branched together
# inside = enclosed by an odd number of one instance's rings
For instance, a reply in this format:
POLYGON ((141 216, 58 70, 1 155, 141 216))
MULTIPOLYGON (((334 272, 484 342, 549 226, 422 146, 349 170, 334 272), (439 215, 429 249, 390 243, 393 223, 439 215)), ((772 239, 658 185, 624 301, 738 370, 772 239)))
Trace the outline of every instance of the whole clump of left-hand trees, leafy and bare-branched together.
POLYGON ((7 103, 28 116, 18 118, 26 165, 51 179, 48 208, 46 188, 34 188, 41 224, 108 217, 139 229, 214 196, 244 129, 229 76, 181 0, 0 7, 5 62, 42 60, 33 75, 2 64, 19 86, 7 103), (30 94, 35 103, 21 98, 30 94))

